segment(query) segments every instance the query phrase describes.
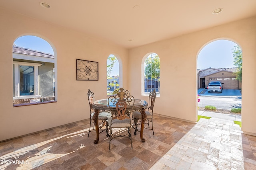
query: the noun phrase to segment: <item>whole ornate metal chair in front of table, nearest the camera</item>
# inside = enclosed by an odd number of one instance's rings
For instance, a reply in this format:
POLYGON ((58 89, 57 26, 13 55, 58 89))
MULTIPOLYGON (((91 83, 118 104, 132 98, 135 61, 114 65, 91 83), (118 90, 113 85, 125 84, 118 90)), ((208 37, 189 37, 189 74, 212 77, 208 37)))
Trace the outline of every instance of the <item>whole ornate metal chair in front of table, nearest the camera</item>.
POLYGON ((110 129, 108 149, 110 149, 111 140, 116 137, 130 139, 132 147, 132 135, 130 133, 132 129, 132 114, 130 114, 130 111, 132 111, 134 106, 134 97, 130 96, 130 92, 124 90, 124 88, 115 90, 113 94, 113 96, 108 98, 108 107, 110 107, 112 114, 108 119, 110 129), (127 132, 124 131, 124 128, 127 129, 127 132), (114 132, 113 129, 115 130, 114 132))

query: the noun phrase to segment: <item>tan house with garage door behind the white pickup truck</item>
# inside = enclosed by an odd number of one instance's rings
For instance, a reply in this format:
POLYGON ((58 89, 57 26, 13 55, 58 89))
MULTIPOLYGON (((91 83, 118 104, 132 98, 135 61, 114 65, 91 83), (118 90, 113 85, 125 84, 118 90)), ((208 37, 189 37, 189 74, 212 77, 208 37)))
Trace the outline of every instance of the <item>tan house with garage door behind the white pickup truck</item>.
POLYGON ((206 68, 198 70, 198 88, 207 88, 212 81, 220 81, 224 89, 240 89, 242 82, 236 80, 237 67, 233 68, 206 68))

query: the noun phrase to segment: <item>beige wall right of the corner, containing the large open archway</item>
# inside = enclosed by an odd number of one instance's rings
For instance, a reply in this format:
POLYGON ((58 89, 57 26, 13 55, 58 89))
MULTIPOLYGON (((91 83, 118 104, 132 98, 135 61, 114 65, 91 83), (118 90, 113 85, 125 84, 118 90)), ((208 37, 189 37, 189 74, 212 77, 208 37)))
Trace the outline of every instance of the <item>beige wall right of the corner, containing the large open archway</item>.
POLYGON ((256 17, 204 29, 164 41, 129 50, 129 89, 136 98, 144 98, 141 88, 142 58, 147 53, 160 57, 160 97, 156 98, 154 113, 186 121, 197 120, 197 57, 208 43, 227 39, 236 42, 243 51, 242 72, 242 130, 256 134, 254 120, 256 77, 256 17), (136 86, 134 85, 136 84, 136 86))

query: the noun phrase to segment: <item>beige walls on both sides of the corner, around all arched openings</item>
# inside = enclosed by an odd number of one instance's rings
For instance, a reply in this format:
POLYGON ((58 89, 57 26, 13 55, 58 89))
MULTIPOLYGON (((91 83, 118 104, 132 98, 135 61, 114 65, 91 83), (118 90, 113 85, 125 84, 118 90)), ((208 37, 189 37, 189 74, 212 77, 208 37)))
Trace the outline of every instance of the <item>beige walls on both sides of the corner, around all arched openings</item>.
POLYGON ((156 98, 154 112, 195 122, 197 55, 204 45, 217 39, 234 41, 243 50, 242 130, 256 134, 253 113, 256 90, 252 88, 256 81, 255 17, 130 50, 2 9, 0 23, 0 141, 88 119, 88 88, 95 92, 96 99, 106 98, 106 88, 102 86, 106 86, 106 60, 110 54, 122 62, 120 86, 129 89, 135 98, 148 100, 140 95, 142 58, 157 53, 161 63, 161 96, 156 98), (52 45, 56 56, 57 103, 13 107, 12 44, 22 35, 36 35, 52 45), (77 81, 76 59, 98 61, 99 81, 77 81))

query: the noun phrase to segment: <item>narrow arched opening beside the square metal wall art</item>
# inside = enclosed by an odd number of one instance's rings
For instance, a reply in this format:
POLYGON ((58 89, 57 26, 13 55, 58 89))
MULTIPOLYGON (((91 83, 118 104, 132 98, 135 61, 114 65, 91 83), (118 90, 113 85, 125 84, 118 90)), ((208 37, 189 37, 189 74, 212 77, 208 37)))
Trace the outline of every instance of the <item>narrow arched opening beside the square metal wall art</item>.
POLYGON ((115 55, 107 59, 107 95, 113 94, 119 88, 119 62, 115 55))

